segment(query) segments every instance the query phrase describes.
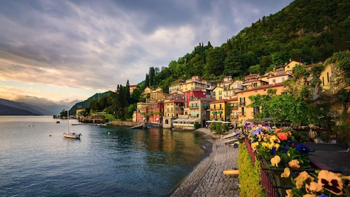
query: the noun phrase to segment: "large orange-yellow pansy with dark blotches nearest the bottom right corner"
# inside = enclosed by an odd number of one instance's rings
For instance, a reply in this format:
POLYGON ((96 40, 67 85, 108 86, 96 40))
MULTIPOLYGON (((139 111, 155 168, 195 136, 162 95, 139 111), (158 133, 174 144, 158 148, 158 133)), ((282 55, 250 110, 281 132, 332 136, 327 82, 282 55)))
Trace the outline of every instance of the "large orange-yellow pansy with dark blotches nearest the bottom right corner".
POLYGON ((318 172, 318 184, 335 195, 342 194, 342 179, 333 172, 328 170, 320 170, 320 172, 318 172))

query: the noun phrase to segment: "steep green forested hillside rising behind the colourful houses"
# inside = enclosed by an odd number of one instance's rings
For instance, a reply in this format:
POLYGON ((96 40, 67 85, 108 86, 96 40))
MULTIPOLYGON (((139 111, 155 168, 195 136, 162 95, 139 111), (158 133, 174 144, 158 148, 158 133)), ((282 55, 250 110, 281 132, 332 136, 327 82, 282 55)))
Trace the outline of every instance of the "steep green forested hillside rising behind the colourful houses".
POLYGON ((200 43, 168 67, 150 68, 144 87, 167 92, 175 80, 200 75, 219 81, 272 70, 290 60, 310 64, 350 49, 350 1, 295 0, 282 11, 263 16, 221 46, 200 43))

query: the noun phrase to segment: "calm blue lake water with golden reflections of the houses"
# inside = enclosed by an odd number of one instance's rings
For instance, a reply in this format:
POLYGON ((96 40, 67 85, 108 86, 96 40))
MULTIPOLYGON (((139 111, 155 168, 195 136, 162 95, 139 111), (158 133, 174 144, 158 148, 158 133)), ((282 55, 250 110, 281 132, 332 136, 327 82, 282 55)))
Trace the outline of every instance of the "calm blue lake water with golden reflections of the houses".
POLYGON ((82 138, 63 138, 67 120, 0 116, 0 196, 169 196, 211 150, 196 132, 69 128, 82 138))

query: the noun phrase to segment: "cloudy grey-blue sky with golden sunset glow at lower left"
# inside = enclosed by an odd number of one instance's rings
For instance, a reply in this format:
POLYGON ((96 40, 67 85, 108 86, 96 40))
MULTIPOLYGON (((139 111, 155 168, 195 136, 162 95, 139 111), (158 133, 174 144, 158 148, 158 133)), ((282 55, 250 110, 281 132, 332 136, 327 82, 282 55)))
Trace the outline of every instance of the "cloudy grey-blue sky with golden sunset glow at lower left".
POLYGON ((0 98, 86 100, 221 46, 292 0, 0 0, 0 98))

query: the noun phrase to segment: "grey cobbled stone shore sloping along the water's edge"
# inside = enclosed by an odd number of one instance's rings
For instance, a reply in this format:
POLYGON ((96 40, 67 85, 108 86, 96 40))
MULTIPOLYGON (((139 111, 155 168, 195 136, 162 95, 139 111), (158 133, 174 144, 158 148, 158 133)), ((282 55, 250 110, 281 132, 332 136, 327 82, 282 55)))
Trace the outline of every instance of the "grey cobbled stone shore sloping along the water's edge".
POLYGON ((239 196, 238 175, 223 170, 238 169, 238 148, 226 146, 222 139, 212 139, 209 129, 200 128, 212 141, 212 153, 202 160, 171 196, 239 196))

